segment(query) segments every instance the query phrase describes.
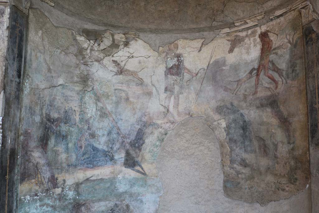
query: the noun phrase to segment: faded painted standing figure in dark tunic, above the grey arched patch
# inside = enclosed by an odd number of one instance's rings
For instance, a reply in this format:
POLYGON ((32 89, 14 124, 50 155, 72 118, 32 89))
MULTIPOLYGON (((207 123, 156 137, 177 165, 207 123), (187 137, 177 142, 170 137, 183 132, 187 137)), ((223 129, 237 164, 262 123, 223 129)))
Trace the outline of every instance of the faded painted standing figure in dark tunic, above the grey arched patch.
POLYGON ((166 52, 166 70, 165 70, 165 106, 169 110, 171 98, 174 95, 173 111, 178 114, 179 96, 182 94, 184 72, 192 77, 197 76, 197 73, 189 71, 184 66, 183 54, 177 53, 178 44, 170 44, 166 52))

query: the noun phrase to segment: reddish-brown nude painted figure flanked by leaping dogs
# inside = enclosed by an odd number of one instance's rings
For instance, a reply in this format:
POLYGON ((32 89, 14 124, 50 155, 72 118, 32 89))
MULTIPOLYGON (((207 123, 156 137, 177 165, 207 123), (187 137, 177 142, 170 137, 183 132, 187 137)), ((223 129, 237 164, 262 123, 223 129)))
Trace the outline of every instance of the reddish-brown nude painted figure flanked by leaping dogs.
POLYGON ((256 95, 258 93, 259 77, 262 71, 264 71, 265 76, 267 78, 269 78, 275 83, 276 89, 278 89, 278 81, 270 73, 268 73, 269 56, 272 49, 272 40, 269 37, 268 32, 266 31, 261 32, 259 34, 259 39, 261 41, 261 50, 260 50, 259 64, 258 64, 256 79, 255 79, 255 92, 253 93, 253 95, 256 95))

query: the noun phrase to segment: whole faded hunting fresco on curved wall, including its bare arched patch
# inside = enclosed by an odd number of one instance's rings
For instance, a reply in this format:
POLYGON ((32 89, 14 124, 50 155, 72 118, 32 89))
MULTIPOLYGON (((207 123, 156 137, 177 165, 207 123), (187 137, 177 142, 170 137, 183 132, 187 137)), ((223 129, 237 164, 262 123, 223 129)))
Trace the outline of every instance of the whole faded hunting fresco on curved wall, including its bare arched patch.
POLYGON ((308 199, 299 12, 203 42, 152 49, 30 10, 19 212, 271 212, 308 199))

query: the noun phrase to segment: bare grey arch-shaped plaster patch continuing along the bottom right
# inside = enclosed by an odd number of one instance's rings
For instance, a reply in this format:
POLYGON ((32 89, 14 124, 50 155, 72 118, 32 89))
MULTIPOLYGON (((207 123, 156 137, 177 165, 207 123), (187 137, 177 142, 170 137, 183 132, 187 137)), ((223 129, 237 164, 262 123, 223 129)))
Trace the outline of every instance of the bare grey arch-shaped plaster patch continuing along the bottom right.
POLYGON ((186 118, 162 144, 157 160, 164 193, 159 212, 309 212, 310 190, 261 207, 228 199, 219 143, 204 117, 186 118))

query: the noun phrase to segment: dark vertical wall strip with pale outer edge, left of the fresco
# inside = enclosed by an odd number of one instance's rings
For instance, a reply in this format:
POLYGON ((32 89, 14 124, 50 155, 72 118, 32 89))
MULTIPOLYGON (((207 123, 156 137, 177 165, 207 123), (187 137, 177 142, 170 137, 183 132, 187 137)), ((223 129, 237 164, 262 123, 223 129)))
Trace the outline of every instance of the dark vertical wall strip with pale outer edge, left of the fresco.
POLYGON ((0 130, 2 136, 0 143, 0 209, 6 213, 14 212, 18 205, 17 200, 19 200, 19 153, 21 148, 19 124, 27 16, 15 6, 9 4, 1 6, 1 38, 3 39, 1 44, 3 46, 0 49, 0 65, 4 67, 0 67, 0 107, 1 116, 3 116, 0 130))

